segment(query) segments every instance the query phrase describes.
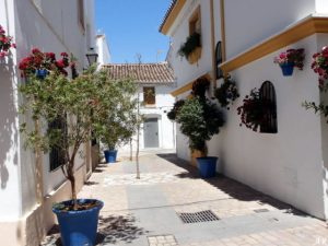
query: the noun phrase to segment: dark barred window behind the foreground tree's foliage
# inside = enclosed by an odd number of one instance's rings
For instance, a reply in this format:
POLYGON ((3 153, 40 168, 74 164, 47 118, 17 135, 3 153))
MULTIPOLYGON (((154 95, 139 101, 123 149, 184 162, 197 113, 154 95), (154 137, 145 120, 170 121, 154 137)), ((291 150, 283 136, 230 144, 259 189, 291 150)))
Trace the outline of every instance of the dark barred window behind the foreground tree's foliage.
MULTIPOLYGON (((58 118, 49 124, 50 129, 58 129, 61 131, 61 136, 67 133, 67 122, 65 119, 58 118)), ((62 149, 52 148, 49 153, 50 172, 57 169, 61 165, 67 163, 65 151, 62 149)))

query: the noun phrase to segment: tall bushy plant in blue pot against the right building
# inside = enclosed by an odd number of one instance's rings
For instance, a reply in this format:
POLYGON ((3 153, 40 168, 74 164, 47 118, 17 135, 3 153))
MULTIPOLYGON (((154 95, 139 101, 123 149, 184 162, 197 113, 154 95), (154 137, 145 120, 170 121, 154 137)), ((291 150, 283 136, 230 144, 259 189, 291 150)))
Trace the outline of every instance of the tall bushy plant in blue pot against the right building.
POLYGON ((171 119, 180 125, 180 131, 189 139, 190 150, 200 153, 197 165, 202 177, 213 177, 216 172, 218 157, 207 156, 207 141, 219 133, 224 125, 224 117, 216 104, 206 97, 210 81, 200 78, 192 84, 191 97, 178 101, 168 113, 171 119))

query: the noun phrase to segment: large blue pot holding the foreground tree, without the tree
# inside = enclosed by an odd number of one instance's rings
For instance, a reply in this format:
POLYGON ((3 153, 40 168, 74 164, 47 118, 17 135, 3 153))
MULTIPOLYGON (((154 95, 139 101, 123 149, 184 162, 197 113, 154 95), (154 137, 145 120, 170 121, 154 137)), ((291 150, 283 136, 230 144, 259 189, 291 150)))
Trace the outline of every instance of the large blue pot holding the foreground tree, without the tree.
MULTIPOLYGON (((104 202, 92 199, 79 199, 79 203, 97 201, 99 206, 83 211, 60 211, 52 208, 56 213, 61 242, 63 246, 93 246, 96 242, 98 214, 104 207, 104 202)), ((60 202, 62 204, 71 203, 70 201, 60 202)))

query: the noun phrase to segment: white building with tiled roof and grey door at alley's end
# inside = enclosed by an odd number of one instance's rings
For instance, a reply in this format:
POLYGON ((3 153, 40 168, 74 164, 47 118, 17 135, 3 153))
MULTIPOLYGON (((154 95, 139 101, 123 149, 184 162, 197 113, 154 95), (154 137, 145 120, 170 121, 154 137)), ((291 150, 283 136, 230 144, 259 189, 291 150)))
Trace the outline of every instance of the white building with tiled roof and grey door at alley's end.
MULTIPOLYGON (((175 124, 167 118, 174 104, 169 93, 175 83, 172 68, 167 62, 160 63, 109 63, 104 66, 112 79, 130 78, 138 83, 140 113, 144 122, 140 131, 140 150, 175 149, 175 124)), ((136 150, 136 136, 132 149, 136 150)), ((120 150, 129 151, 129 144, 120 150)))

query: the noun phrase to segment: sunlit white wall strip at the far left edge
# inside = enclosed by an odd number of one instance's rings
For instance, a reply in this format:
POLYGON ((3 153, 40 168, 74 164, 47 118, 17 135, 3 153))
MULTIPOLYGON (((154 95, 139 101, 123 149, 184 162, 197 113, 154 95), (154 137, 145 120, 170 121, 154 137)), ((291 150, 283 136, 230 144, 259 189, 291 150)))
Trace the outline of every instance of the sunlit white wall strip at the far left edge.
MULTIPOLYGON (((0 25, 15 36, 14 2, 0 1, 0 25)), ((21 214, 20 139, 15 50, 0 60, 0 222, 14 221, 21 214)))

